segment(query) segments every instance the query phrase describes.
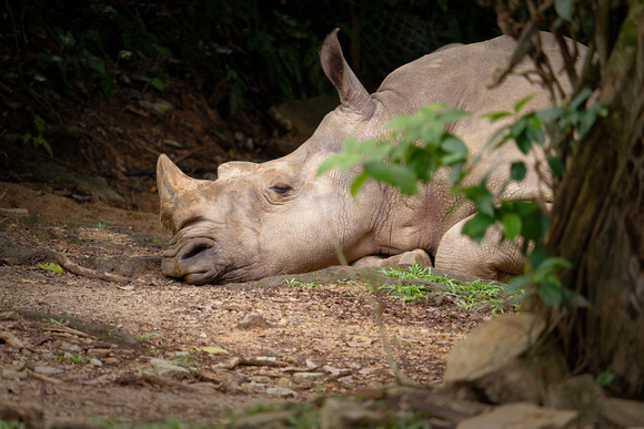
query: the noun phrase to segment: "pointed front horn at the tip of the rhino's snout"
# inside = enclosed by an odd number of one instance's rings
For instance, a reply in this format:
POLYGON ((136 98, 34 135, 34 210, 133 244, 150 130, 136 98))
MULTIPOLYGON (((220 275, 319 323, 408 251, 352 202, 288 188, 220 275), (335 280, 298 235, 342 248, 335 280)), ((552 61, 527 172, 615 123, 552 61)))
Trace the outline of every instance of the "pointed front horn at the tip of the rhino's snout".
POLYGON ((161 225, 167 232, 175 233, 172 213, 178 208, 181 195, 188 191, 194 178, 187 176, 165 155, 159 156, 157 162, 157 188, 161 201, 161 225))

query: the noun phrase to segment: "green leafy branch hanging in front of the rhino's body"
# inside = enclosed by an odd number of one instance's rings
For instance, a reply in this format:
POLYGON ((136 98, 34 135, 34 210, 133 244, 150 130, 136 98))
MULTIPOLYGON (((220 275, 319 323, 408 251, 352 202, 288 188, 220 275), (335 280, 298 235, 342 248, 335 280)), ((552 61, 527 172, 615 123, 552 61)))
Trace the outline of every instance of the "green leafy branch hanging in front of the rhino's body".
MULTIPOLYGON (((588 95, 590 91, 582 91, 564 106, 523 114, 495 133, 489 145, 499 147, 513 141, 524 154, 533 151, 534 146, 541 146, 549 153, 551 171, 561 177, 563 164, 554 155, 556 144, 564 139, 581 139, 597 115, 605 114, 598 103, 587 109, 583 106, 588 95)), ((517 115, 529 100, 520 100, 513 112, 494 112, 484 118, 495 122, 517 115)), ((523 239, 522 251, 529 256, 527 272, 511 279, 509 292, 526 288, 527 296, 532 287, 547 305, 572 305, 574 293, 564 289, 556 278, 556 273, 571 268, 571 264, 549 256, 545 249, 544 241, 550 227, 545 198, 529 195, 525 200, 507 200, 503 195, 510 184, 525 178, 526 165, 523 162, 513 163, 510 177, 496 193, 490 191, 487 177, 483 177, 477 185, 461 186, 480 159, 470 156, 463 141, 449 130, 451 123, 467 115, 443 104, 433 104, 421 108, 414 115, 394 118, 385 125, 388 133, 384 136, 362 143, 354 137, 349 139, 342 152, 320 165, 318 174, 335 167, 341 172, 356 168, 350 188, 352 195, 369 178, 393 185, 403 194, 414 195, 419 192, 419 183, 427 184, 439 170, 449 170, 452 192, 463 195, 476 206, 476 214, 465 223, 463 234, 481 243, 490 227, 500 225, 502 239, 523 239)))

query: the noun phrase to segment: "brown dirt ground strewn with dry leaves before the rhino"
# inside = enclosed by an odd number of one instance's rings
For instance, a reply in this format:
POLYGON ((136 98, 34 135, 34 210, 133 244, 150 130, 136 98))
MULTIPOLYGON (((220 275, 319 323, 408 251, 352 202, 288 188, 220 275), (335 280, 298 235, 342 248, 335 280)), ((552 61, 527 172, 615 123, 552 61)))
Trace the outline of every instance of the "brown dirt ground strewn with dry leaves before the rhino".
POLYGON ((95 417, 217 423, 227 410, 256 402, 391 385, 383 341, 404 378, 432 386, 450 348, 484 316, 404 305, 360 282, 191 286, 160 273, 165 238, 155 213, 80 204, 42 184, 1 183, 4 190, 3 418, 40 427, 95 417), (53 253, 129 282, 39 267, 53 253), (384 337, 374 306, 383 310, 384 337))

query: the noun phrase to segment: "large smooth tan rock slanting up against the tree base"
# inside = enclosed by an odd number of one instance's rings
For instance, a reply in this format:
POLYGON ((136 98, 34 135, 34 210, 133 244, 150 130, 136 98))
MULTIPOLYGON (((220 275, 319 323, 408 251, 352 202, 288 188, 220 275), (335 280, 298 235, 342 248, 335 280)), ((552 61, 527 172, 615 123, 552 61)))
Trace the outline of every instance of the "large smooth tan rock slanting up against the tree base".
POLYGON ((533 314, 502 315, 476 327, 447 356, 445 382, 474 381, 505 368, 539 338, 545 321, 533 314))

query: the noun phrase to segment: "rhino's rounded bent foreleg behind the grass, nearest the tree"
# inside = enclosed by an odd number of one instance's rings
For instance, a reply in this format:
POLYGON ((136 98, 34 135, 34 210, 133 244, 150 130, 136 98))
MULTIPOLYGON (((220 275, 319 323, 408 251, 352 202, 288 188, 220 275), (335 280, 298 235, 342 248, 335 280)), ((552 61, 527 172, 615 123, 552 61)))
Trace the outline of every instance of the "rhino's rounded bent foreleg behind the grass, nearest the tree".
POLYGON ((513 274, 523 273, 527 263, 521 254, 523 242, 501 242, 501 227, 494 225, 477 244, 461 233, 465 222, 472 217, 459 222, 443 235, 436 251, 436 268, 501 282, 506 282, 513 274))

